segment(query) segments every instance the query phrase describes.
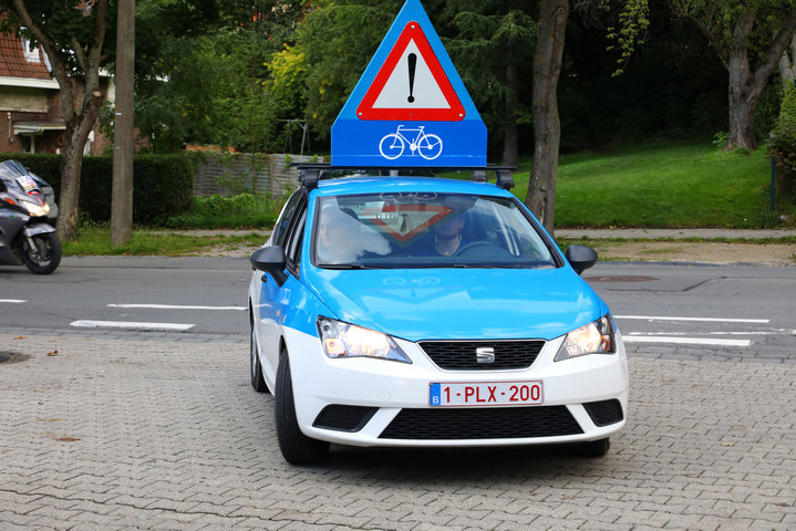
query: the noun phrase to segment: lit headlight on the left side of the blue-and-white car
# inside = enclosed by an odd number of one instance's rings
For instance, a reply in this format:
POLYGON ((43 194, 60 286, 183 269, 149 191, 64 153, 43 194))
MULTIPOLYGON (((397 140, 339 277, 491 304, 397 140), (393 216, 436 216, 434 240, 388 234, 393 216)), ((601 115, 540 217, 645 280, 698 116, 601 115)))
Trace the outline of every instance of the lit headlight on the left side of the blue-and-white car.
POLYGON ((323 352, 329 357, 376 357, 412 363, 389 335, 329 317, 318 317, 323 352))

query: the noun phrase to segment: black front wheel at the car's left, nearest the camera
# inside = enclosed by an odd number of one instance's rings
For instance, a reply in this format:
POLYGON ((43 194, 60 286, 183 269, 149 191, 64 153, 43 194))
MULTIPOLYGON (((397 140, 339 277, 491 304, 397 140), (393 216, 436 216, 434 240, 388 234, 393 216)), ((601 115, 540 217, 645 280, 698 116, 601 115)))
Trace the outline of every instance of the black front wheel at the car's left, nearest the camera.
POLYGON ((285 460, 291 465, 308 465, 323 460, 329 454, 329 442, 307 437, 299 428, 293 403, 293 384, 290 378, 290 361, 282 350, 277 368, 275 394, 277 438, 285 460))

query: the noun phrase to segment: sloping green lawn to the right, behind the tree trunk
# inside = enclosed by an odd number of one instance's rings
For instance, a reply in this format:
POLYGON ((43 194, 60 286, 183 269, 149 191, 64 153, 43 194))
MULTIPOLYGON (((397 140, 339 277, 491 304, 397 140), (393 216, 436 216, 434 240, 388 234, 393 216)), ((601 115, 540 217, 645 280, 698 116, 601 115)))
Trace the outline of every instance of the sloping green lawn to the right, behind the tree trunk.
MULTIPOLYGON (((514 178, 525 199, 531 159, 514 178)), ((561 157, 556 227, 762 228, 771 163, 765 150, 724 153, 709 145, 632 147, 561 157)))

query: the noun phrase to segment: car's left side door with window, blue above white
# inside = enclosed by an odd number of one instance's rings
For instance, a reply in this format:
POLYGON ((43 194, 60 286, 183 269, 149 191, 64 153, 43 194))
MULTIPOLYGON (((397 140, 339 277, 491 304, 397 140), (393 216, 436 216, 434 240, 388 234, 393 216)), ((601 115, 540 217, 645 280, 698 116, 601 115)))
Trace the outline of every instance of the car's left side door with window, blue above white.
POLYGON ((260 277, 260 296, 257 301, 257 336, 260 344, 262 366, 266 378, 273 382, 276 367, 279 363, 280 326, 286 314, 286 290, 298 283, 300 274, 300 249, 307 221, 307 194, 297 191, 286 205, 282 216, 277 221, 271 244, 285 249, 287 266, 285 273, 288 279, 279 285, 270 273, 260 277))

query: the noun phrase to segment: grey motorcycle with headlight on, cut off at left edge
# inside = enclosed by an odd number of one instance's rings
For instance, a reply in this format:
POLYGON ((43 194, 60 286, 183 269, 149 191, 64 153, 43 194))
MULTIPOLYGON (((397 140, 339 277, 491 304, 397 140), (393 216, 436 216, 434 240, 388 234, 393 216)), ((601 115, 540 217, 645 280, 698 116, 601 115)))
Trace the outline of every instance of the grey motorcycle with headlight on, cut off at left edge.
POLYGON ((0 163, 0 263, 24 263, 37 274, 55 271, 61 240, 48 222, 49 214, 40 185, 24 166, 17 160, 0 163))

